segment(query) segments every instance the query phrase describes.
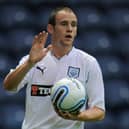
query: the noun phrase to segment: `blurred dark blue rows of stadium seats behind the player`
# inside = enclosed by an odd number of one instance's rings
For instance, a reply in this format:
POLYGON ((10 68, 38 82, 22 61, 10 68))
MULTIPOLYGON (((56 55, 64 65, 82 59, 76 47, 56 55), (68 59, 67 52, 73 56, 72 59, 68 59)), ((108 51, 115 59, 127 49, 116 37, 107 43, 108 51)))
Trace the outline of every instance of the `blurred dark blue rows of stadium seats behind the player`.
POLYGON ((106 117, 86 129, 129 129, 129 0, 0 0, 0 129, 20 129, 25 106, 25 90, 12 95, 2 81, 60 5, 76 12, 75 46, 98 59, 104 76, 106 117))

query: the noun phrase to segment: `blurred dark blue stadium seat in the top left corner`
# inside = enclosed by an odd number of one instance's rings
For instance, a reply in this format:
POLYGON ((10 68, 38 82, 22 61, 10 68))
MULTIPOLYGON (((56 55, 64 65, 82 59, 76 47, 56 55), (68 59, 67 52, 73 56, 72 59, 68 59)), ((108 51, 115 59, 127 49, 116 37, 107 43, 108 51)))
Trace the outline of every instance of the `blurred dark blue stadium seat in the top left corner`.
POLYGON ((4 28, 33 27, 34 17, 29 9, 24 6, 6 5, 0 8, 0 23, 4 28), (4 18, 3 18, 4 17, 4 18))

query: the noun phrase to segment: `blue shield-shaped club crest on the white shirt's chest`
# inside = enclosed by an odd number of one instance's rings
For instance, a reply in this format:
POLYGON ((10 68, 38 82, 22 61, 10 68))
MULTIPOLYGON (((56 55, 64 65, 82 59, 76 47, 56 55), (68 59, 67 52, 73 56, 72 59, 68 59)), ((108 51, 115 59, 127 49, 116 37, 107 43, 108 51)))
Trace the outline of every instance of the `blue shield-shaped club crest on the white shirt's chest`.
POLYGON ((68 67, 68 73, 67 74, 68 74, 69 77, 78 78, 79 73, 80 73, 80 68, 72 67, 72 66, 68 67))

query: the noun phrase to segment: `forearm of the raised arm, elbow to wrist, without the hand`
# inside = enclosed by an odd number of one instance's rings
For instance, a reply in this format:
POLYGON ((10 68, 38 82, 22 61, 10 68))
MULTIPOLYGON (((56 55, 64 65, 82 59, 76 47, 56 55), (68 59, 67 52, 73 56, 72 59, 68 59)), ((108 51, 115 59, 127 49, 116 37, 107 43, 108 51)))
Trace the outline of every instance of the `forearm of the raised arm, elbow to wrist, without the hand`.
POLYGON ((13 72, 9 73, 4 79, 4 88, 6 90, 16 89, 18 84, 22 81, 26 73, 33 67, 28 60, 16 68, 13 72))

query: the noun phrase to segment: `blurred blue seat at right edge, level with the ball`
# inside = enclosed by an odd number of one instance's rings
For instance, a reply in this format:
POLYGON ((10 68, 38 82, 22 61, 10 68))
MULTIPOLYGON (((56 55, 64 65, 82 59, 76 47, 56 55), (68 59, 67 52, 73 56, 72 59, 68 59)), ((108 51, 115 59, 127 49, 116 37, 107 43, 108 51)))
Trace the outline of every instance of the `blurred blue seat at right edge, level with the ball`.
POLYGON ((105 83, 106 107, 114 111, 129 106, 129 84, 125 80, 110 80, 105 83))

